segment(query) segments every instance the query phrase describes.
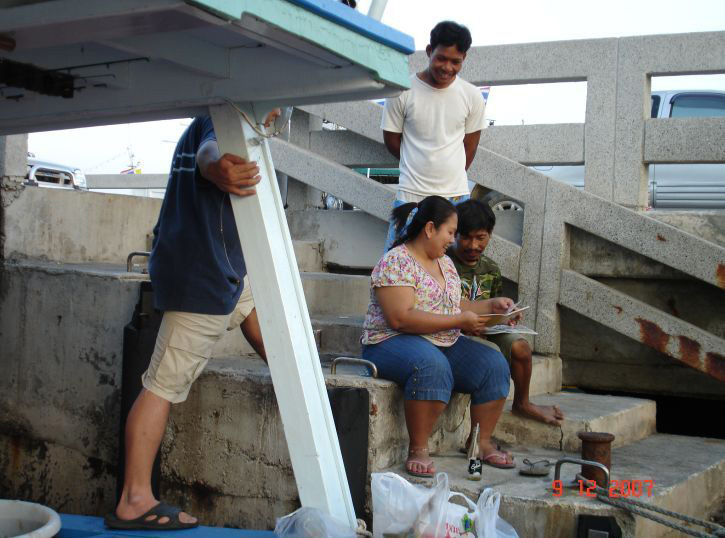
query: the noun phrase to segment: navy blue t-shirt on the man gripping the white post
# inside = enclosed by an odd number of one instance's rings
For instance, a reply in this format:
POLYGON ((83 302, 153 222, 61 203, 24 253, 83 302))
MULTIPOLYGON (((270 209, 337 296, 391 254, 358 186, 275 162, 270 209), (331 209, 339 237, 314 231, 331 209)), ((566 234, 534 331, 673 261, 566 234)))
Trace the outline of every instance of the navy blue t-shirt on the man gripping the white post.
POLYGON ((229 314, 242 293, 247 269, 229 194, 196 165, 207 140, 216 135, 204 116, 194 118, 176 145, 149 260, 159 310, 229 314))

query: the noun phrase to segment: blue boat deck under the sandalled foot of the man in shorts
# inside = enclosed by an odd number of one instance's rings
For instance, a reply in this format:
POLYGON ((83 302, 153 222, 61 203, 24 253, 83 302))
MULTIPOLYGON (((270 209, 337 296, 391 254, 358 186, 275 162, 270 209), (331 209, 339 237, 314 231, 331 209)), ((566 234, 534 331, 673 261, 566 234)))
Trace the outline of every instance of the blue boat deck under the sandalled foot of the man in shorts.
POLYGON ((250 531, 224 527, 196 527, 183 531, 117 531, 107 529, 103 518, 60 514, 61 528, 56 538, 272 538, 272 531, 250 531))

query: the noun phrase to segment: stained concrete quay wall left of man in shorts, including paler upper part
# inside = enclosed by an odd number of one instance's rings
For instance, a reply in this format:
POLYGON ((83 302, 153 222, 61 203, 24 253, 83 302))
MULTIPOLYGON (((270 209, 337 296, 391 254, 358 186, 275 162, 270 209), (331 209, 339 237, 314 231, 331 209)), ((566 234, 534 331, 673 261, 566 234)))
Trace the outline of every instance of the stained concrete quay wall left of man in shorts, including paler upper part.
POLYGON ((159 201, 25 187, 26 137, 0 137, 0 497, 115 505, 123 329, 159 201), (115 265, 114 265, 115 264, 115 265))

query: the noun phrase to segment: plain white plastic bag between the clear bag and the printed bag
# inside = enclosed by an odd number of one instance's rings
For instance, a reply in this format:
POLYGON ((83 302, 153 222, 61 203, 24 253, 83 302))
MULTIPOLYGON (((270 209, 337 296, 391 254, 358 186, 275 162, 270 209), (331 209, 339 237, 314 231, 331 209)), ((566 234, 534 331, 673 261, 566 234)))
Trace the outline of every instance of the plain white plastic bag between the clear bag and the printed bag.
POLYGON ((414 486, 395 473, 372 474, 373 536, 435 538, 445 536, 448 476, 433 486, 414 486))

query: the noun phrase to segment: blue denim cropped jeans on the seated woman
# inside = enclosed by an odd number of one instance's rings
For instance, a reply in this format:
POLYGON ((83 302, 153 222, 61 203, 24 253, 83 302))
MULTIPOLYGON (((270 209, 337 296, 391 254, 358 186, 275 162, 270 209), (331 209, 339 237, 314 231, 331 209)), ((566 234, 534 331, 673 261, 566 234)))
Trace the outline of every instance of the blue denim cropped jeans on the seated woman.
POLYGON ((506 398, 509 365, 495 349, 460 336, 450 347, 416 334, 399 334, 379 344, 363 345, 362 356, 395 381, 406 400, 448 403, 453 391, 471 395, 473 405, 506 398))

